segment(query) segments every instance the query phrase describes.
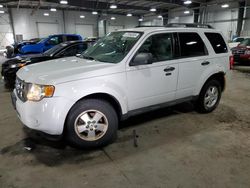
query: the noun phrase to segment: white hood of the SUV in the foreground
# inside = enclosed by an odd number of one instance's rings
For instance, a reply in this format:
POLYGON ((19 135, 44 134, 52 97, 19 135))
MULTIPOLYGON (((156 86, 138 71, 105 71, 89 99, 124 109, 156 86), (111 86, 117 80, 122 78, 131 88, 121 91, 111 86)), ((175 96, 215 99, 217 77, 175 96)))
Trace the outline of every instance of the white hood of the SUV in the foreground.
POLYGON ((25 82, 56 85, 114 72, 116 64, 69 57, 25 66, 17 76, 25 82))

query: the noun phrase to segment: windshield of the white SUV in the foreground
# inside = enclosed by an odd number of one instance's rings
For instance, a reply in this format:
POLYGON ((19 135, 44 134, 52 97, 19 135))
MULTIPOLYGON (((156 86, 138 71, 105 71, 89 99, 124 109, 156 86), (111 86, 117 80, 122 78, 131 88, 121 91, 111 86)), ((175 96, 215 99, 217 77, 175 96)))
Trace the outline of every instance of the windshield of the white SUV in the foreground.
POLYGON ((119 63, 141 37, 141 32, 117 31, 107 34, 80 57, 108 63, 119 63))

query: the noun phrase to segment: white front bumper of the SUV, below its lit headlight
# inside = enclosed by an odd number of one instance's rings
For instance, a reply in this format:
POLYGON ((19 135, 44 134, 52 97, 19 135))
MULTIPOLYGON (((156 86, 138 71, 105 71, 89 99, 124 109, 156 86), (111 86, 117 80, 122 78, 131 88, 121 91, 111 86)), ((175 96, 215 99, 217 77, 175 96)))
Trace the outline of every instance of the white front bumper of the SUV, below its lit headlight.
POLYGON ((39 102, 22 102, 15 90, 11 98, 18 117, 25 126, 49 135, 62 135, 71 101, 63 97, 52 97, 39 102))

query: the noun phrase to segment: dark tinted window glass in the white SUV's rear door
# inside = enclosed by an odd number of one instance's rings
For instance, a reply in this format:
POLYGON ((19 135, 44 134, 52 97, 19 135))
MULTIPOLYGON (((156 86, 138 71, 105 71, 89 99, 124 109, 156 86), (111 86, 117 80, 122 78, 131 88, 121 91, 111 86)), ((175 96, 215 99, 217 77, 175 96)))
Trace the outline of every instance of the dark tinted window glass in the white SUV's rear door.
POLYGON ((181 57, 207 55, 207 49, 198 33, 179 33, 181 57))

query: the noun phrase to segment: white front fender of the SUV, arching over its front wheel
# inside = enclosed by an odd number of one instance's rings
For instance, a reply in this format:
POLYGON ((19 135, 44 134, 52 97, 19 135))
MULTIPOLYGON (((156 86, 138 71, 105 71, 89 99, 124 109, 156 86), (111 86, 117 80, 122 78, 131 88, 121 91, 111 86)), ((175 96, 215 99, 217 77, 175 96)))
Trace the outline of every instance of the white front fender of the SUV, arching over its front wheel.
POLYGON ((73 106, 77 101, 91 94, 108 94, 119 103, 122 114, 128 112, 126 97, 125 74, 108 75, 101 78, 78 80, 58 84, 55 90, 55 97, 64 97, 71 101, 73 106))

